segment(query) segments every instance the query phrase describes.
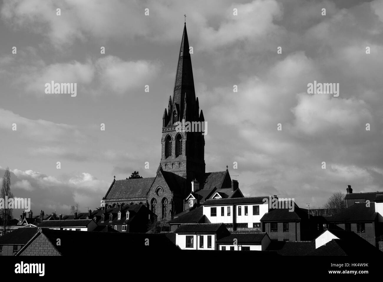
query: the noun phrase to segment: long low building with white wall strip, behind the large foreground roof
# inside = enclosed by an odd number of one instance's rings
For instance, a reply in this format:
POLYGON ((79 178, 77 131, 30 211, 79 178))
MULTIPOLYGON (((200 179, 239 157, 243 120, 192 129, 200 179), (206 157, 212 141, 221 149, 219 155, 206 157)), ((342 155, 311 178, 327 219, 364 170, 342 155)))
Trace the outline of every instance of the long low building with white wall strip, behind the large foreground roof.
POLYGON ((97 227, 97 223, 93 219, 48 220, 39 223, 37 227, 56 230, 93 231, 97 227))

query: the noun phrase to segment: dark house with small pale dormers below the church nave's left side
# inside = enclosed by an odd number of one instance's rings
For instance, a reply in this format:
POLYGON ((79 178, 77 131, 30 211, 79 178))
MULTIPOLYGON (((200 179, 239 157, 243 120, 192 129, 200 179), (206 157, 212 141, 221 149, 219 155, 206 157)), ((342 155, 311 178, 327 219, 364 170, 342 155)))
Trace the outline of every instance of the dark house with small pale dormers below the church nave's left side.
POLYGON ((120 205, 116 208, 105 207, 92 214, 98 226, 110 226, 124 233, 146 233, 148 223, 156 215, 142 204, 120 205))

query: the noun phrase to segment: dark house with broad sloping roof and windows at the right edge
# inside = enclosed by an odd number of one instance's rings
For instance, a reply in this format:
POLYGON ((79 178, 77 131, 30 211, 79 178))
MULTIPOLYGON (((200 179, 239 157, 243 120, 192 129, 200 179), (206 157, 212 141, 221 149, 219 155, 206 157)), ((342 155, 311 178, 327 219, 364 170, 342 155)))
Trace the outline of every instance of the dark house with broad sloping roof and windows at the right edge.
POLYGON ((329 229, 353 231, 373 246, 382 245, 383 223, 380 214, 375 211, 375 202, 354 203, 327 218, 329 229))

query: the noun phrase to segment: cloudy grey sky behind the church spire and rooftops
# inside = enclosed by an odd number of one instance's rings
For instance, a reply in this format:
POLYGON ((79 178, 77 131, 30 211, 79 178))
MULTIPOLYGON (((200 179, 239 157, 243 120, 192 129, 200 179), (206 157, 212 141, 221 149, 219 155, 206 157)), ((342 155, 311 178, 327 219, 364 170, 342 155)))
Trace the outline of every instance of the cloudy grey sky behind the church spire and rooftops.
POLYGON ((382 0, 4 0, 0 178, 9 167, 34 215, 95 209, 114 175, 155 175, 184 14, 206 172, 228 165, 245 196, 303 208, 383 190, 382 0), (46 94, 51 81, 77 96, 46 94), (314 81, 339 96, 308 93, 314 81))

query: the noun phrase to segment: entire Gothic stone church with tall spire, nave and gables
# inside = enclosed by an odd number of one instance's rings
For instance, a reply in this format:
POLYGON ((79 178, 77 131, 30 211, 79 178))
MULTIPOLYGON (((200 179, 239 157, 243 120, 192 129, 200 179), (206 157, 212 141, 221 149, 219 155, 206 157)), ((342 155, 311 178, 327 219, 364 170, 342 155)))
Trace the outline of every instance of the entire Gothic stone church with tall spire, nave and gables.
POLYGON ((162 116, 161 160, 154 177, 114 179, 103 197, 105 208, 143 204, 159 221, 170 221, 205 200, 242 198, 238 182, 226 171, 205 171, 202 132, 179 130, 177 124, 205 122, 193 80, 186 23, 183 27, 173 97, 162 116))

